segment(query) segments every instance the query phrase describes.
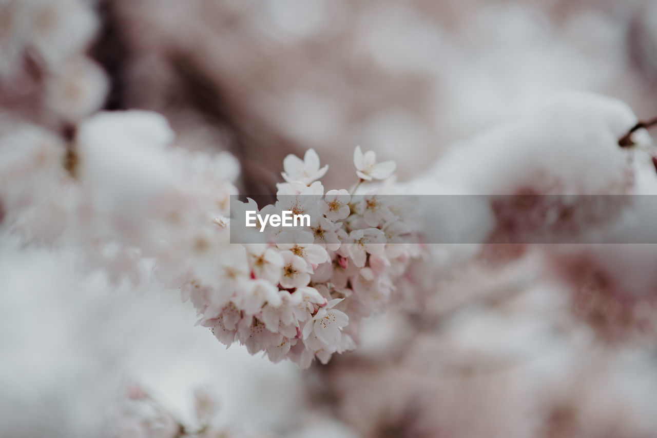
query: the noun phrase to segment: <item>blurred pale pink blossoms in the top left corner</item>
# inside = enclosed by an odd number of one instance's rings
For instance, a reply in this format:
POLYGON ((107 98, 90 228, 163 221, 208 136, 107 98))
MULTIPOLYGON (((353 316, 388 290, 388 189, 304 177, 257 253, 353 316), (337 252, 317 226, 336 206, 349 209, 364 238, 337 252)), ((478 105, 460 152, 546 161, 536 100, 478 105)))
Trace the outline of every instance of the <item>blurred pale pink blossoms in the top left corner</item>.
POLYGON ((2 111, 59 128, 101 108, 108 80, 86 55, 99 29, 93 7, 80 0, 0 3, 2 111))

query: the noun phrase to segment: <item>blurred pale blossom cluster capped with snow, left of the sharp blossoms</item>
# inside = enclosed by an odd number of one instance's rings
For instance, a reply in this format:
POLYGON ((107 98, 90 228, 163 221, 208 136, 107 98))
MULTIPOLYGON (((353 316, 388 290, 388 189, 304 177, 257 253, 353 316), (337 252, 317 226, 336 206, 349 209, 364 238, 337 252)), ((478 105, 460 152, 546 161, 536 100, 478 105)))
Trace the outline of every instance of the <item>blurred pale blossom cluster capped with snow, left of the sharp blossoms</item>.
POLYGON ((66 141, 28 123, 0 139, 5 222, 28 240, 73 245, 83 267, 139 282, 141 259, 187 263, 218 226, 237 162, 169 147, 167 121, 105 112, 66 141))

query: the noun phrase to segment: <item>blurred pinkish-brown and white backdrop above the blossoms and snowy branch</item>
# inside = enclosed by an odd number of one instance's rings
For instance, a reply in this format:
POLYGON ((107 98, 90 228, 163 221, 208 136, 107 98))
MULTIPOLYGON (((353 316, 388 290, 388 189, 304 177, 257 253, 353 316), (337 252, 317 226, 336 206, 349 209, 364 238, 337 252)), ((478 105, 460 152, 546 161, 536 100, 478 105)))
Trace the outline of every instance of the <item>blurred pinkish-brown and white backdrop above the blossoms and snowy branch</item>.
POLYGON ((329 188, 356 144, 412 177, 563 89, 657 110, 654 1, 141 0, 101 17, 108 106, 229 148, 254 194, 307 148, 331 165, 329 188))

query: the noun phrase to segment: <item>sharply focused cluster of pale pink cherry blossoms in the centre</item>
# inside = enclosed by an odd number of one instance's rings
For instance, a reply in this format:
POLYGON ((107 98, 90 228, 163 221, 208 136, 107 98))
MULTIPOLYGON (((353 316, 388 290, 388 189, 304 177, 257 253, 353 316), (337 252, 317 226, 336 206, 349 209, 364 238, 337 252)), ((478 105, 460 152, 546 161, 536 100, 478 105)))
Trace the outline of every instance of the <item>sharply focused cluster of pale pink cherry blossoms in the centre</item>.
POLYGON ((304 160, 285 158, 286 182, 277 185, 275 204, 258 209, 250 198, 235 202, 234 214, 294 211, 312 219, 294 232, 266 226, 260 242, 227 247, 217 258, 215 287, 194 279, 183 289, 219 341, 307 368, 314 357, 326 363, 333 353, 353 349, 359 320, 390 302, 419 247, 407 239, 404 211, 377 187, 353 194, 364 181, 390 177, 394 162, 376 162, 373 151, 363 154, 359 147, 353 162, 359 181, 351 193, 325 192, 318 180, 328 166, 320 167, 310 149, 304 160))

